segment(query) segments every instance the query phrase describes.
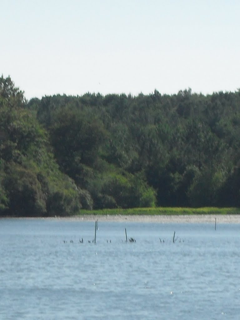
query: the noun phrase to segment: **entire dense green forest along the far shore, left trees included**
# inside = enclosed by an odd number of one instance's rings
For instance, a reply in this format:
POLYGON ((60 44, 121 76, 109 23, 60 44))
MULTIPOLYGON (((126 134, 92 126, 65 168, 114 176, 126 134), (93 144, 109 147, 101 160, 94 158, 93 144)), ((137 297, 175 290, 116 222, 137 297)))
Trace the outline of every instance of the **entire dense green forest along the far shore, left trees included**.
POLYGON ((0 77, 0 215, 239 206, 240 91, 27 101, 0 77))

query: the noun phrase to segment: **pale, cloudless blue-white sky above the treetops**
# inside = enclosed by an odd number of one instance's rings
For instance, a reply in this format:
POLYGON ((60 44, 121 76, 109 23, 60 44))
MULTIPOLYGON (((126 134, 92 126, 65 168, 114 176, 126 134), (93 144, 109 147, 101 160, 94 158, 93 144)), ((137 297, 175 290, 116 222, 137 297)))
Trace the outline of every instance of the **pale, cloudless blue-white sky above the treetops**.
POLYGON ((0 75, 25 97, 240 87, 240 1, 0 0, 0 75))

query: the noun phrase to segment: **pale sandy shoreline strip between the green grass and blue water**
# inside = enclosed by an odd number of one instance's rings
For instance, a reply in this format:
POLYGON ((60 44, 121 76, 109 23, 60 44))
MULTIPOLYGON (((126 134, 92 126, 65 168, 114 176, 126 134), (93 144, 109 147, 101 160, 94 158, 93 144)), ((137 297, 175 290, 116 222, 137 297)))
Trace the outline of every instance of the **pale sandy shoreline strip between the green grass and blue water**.
MULTIPOLYGON (((198 214, 198 215, 81 215, 72 217, 17 218, 62 221, 109 221, 109 222, 151 222, 151 223, 240 223, 240 215, 198 214)), ((11 218, 12 219, 12 218, 11 218)))

